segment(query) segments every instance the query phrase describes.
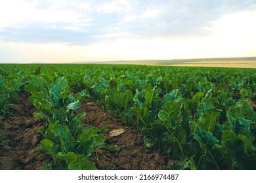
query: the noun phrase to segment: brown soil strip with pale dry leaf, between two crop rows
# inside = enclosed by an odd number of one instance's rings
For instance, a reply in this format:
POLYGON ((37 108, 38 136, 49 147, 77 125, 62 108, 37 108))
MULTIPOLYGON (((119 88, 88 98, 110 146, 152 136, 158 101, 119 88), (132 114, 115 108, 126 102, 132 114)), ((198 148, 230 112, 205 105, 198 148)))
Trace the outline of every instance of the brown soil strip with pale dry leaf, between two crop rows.
MULTIPOLYGON (((77 109, 77 113, 86 112, 85 124, 100 127, 106 125, 104 133, 106 143, 112 146, 117 145, 119 152, 110 152, 104 148, 97 151, 95 163, 98 169, 162 169, 163 165, 168 163, 168 158, 144 146, 142 135, 135 127, 125 127, 123 122, 112 116, 109 110, 102 110, 89 99, 82 102, 82 107, 77 109), (114 129, 125 129, 125 132, 117 137, 110 137, 110 131, 114 129)), ((170 163, 170 161, 169 161, 170 163)))

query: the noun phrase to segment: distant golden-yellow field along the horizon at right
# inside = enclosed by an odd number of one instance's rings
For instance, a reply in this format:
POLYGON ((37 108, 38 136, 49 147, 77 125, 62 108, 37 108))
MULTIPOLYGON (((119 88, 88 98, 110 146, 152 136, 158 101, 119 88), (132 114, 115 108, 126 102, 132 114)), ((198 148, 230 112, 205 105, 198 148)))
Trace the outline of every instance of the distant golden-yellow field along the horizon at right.
POLYGON ((186 67, 237 67, 256 68, 256 59, 211 59, 211 60, 181 60, 181 61, 114 61, 108 63, 135 64, 135 65, 166 65, 166 66, 186 66, 186 67))

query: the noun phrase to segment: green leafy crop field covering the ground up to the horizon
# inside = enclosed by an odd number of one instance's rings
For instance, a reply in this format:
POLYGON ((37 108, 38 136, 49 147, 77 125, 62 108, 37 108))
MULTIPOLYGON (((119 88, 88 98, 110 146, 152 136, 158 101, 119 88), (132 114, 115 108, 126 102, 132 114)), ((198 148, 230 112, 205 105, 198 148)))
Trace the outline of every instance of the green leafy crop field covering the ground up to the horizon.
POLYGON ((164 157, 161 169, 256 169, 256 69, 5 64, 0 92, 0 154, 8 152, 5 142, 15 141, 7 120, 16 115, 19 97, 28 95, 33 110, 19 118, 43 124, 34 134, 39 142, 32 141, 46 154, 43 169, 99 169, 97 159, 124 150, 110 144, 108 125, 83 120, 87 112, 79 108, 86 99, 141 134, 137 144, 164 157))

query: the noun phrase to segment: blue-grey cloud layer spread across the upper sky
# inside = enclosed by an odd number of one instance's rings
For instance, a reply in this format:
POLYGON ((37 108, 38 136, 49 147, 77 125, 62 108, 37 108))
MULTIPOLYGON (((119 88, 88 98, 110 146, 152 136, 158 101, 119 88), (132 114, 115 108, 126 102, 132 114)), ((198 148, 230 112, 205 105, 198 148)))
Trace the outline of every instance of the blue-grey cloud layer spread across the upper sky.
POLYGON ((3 2, 2 41, 68 44, 129 37, 202 37, 211 33, 209 27, 225 14, 256 8, 252 0, 3 2))

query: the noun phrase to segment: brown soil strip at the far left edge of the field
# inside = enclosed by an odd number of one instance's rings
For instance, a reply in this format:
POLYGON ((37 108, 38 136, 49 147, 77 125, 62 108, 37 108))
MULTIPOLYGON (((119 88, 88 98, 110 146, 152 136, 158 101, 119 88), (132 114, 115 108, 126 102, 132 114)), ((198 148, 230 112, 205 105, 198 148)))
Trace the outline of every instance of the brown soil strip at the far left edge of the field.
POLYGON ((37 169, 47 160, 35 149, 42 138, 39 129, 45 122, 33 118, 35 108, 28 102, 28 93, 20 93, 11 110, 12 115, 0 124, 0 133, 6 135, 0 141, 0 169, 37 169))

